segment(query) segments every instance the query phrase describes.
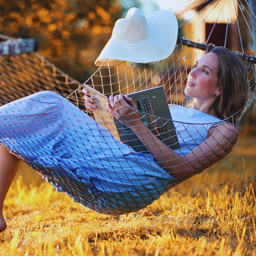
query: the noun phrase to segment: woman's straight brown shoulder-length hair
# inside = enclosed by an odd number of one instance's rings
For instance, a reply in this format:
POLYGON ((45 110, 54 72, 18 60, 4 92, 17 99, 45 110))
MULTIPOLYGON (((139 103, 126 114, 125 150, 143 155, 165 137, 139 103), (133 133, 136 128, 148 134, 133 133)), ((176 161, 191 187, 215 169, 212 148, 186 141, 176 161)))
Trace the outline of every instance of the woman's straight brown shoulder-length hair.
MULTIPOLYGON (((225 119, 241 110, 247 102, 247 70, 240 58, 228 49, 215 47, 211 52, 219 59, 217 77, 221 93, 216 101, 216 112, 225 119)), ((235 119, 239 116, 240 113, 235 119)))

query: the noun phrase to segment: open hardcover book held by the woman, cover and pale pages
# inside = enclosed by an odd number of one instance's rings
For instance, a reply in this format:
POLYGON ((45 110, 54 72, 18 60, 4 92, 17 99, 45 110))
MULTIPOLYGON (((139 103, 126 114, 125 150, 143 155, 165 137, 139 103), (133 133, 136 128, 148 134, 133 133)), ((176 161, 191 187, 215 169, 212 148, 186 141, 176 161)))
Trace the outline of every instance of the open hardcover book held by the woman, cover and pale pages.
MULTIPOLYGON (((135 151, 144 154, 149 153, 136 134, 106 110, 108 97, 86 84, 83 85, 96 102, 97 109, 93 110, 95 120, 108 129, 113 136, 131 146, 135 151)), ((158 139, 172 149, 180 148, 163 86, 134 92, 127 94, 127 96, 133 98, 143 123, 158 139)))

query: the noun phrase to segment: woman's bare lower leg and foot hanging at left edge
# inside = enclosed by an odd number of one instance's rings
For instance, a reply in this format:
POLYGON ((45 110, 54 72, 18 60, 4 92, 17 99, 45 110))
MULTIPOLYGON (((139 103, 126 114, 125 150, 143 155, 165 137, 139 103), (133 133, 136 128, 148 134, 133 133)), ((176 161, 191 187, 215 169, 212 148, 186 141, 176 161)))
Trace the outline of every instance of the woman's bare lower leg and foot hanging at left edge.
POLYGON ((3 217, 3 203, 20 167, 20 162, 19 158, 0 146, 0 233, 7 228, 3 217))

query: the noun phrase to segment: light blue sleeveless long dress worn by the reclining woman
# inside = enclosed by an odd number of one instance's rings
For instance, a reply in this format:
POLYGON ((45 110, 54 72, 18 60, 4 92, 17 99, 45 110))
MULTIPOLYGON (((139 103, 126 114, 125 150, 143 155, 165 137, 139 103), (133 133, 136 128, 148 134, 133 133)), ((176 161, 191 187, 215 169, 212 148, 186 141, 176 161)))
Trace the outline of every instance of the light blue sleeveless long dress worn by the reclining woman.
MULTIPOLYGON (((181 144, 176 151, 184 155, 204 141, 211 125, 191 128, 181 123, 181 112, 188 123, 195 118, 198 123, 220 119, 181 106, 171 108, 181 144)), ((151 154, 121 143, 55 92, 42 91, 6 104, 0 107, 0 118, 0 143, 58 192, 90 210, 112 215, 138 211, 180 183, 151 154)))

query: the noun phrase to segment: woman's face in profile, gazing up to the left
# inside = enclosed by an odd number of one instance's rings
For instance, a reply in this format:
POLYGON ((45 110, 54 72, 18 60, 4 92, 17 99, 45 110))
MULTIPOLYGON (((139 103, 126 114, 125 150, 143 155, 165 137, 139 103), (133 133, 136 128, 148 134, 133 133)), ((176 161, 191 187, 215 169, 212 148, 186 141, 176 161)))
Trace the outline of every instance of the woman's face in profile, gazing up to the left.
POLYGON ((185 94, 193 98, 208 100, 220 95, 217 77, 219 59, 215 53, 207 53, 190 71, 185 94))

